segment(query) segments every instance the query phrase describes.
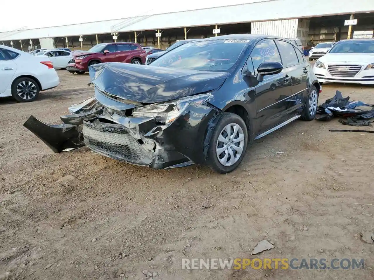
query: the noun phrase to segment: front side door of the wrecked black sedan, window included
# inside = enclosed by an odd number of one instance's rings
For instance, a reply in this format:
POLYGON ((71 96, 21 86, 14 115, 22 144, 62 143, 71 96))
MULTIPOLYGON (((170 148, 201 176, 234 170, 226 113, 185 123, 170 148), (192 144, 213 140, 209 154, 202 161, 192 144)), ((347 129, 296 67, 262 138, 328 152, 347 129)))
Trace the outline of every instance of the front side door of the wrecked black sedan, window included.
MULTIPOLYGON (((282 63, 278 48, 272 39, 262 40, 254 47, 247 61, 249 71, 257 75, 258 66, 265 61, 282 63)), ((258 83, 255 88, 257 134, 288 118, 286 100, 290 96, 291 77, 287 68, 279 74, 265 76, 264 80, 258 83)))

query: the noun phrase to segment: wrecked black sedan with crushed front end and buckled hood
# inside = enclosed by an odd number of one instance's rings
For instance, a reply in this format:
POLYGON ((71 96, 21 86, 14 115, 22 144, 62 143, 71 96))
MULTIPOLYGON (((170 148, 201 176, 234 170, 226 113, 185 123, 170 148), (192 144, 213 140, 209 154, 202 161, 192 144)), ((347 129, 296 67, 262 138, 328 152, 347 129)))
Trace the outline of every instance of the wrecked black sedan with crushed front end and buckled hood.
POLYGON ((237 34, 188 42, 150 65, 90 67, 95 97, 62 124, 24 126, 54 152, 82 146, 131 164, 205 164, 233 171, 248 143, 315 118, 322 90, 304 55, 283 38, 237 34))

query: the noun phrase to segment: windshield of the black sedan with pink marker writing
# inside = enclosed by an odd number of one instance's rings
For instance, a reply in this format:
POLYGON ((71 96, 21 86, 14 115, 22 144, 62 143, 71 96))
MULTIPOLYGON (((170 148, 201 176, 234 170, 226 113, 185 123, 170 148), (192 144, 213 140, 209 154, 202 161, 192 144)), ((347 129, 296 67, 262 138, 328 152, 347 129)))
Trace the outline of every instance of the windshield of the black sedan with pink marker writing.
POLYGON ((153 66, 229 72, 249 40, 193 41, 165 53, 153 66))

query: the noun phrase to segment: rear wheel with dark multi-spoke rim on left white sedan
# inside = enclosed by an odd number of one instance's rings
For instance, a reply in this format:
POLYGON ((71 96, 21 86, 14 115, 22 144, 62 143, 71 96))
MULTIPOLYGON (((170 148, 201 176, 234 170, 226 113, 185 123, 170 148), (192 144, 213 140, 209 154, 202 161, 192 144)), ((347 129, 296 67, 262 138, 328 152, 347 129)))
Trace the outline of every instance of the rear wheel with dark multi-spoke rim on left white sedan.
POLYGON ((31 78, 18 78, 12 84, 12 96, 18 102, 31 102, 39 96, 38 83, 31 78))

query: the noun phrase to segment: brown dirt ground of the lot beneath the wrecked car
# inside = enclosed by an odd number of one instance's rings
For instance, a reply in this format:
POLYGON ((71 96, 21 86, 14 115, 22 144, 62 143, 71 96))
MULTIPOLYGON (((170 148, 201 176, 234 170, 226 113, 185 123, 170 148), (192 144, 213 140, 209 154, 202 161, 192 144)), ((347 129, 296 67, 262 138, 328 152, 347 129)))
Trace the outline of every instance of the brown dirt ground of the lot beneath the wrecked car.
MULTIPOLYGON (((296 121, 227 175, 157 171, 86 147, 54 154, 24 121, 57 123, 93 95, 88 74, 58 74, 36 102, 0 100, 0 279, 374 279, 374 244, 360 239, 374 230, 373 134, 296 121), (253 258, 263 239, 275 248, 261 259, 364 258, 365 269, 181 269, 182 258, 253 258)), ((324 85, 319 102, 336 89, 374 103, 373 87, 343 84, 324 85)))

